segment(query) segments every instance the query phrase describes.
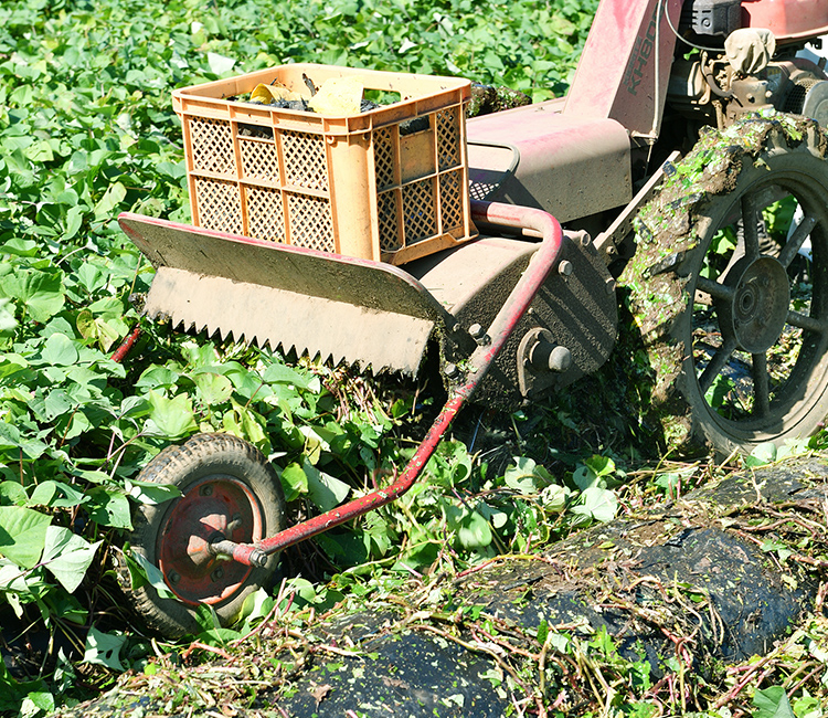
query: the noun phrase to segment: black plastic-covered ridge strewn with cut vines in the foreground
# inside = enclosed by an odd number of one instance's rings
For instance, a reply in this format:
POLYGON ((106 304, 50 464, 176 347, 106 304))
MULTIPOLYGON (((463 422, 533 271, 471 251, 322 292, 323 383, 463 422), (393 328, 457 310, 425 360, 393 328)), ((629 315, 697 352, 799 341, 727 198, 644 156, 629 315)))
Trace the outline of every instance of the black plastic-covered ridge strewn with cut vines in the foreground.
POLYGON ((779 687, 819 706, 827 484, 821 458, 744 471, 545 553, 386 578, 327 615, 283 603, 61 715, 746 717, 779 687))

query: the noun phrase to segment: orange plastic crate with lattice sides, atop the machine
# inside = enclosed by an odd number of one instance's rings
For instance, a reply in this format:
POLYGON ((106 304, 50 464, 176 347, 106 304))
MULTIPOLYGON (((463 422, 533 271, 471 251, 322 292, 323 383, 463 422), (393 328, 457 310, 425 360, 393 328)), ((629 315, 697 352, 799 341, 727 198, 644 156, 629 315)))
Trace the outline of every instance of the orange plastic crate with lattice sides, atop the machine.
POLYGON ((393 264, 469 240, 469 96, 467 80, 316 64, 177 89, 193 224, 393 264), (349 75, 400 101, 331 117, 237 99, 349 75))

